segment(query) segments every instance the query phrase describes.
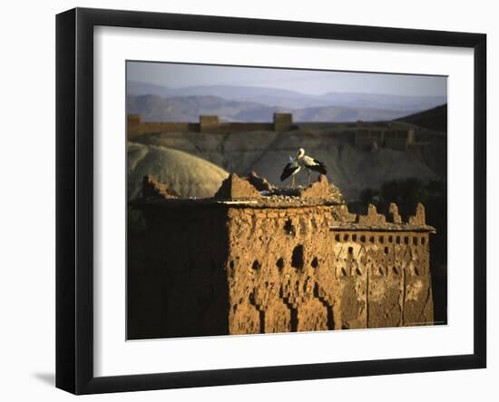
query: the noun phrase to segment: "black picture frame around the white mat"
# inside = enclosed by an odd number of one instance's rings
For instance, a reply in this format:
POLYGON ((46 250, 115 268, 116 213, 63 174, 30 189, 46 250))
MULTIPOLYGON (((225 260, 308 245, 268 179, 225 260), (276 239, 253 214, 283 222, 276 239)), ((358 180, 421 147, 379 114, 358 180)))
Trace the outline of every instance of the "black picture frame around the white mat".
POLYGON ((56 16, 56 387, 74 394, 486 366, 486 35, 75 8, 56 16), (118 377, 93 374, 93 27, 258 34, 474 49, 474 353, 118 377))

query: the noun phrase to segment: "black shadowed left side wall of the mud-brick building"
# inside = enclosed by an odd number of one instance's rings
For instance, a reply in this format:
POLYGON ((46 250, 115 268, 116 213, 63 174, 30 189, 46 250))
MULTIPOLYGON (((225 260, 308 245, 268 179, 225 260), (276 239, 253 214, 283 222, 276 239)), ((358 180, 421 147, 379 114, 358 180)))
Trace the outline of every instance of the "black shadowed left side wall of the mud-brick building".
POLYGON ((226 208, 164 207, 142 211, 142 257, 128 264, 128 338, 227 334, 226 208))

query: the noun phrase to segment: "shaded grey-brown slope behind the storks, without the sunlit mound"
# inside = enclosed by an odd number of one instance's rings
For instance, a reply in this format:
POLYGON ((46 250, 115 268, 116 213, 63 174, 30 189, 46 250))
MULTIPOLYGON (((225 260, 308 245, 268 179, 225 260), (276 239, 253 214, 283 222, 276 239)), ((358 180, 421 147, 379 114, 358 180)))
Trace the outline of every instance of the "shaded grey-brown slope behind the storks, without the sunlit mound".
MULTIPOLYGON (((324 130, 230 134, 178 132, 144 135, 136 141, 141 142, 136 144, 141 150, 143 149, 141 146, 152 150, 178 150, 220 166, 224 174, 235 172, 242 176, 255 171, 271 183, 280 186, 289 185, 289 181, 281 183, 279 176, 285 164, 289 162, 289 156, 295 155, 301 147, 308 155, 326 163, 328 180, 343 191, 347 201, 357 199, 363 189, 378 188, 385 181, 408 177, 417 177, 425 181, 437 178, 435 172, 425 162, 407 152, 383 148, 377 152, 362 151, 348 142, 328 135, 324 130)), ((159 167, 161 160, 152 161, 156 154, 159 157, 161 152, 152 153, 149 161, 151 166, 159 167)), ((170 180, 176 183, 181 182, 180 176, 184 174, 190 177, 197 175, 181 171, 173 173, 171 168, 165 170, 170 172, 170 180), (175 175, 179 175, 179 178, 173 179, 175 175)), ((157 174, 144 170, 139 172, 157 174)), ((208 172, 205 172, 206 174, 208 172)), ((220 180, 220 174, 216 171, 217 179, 213 182, 220 180)), ((316 176, 317 174, 314 175, 314 179, 316 176)), ((297 184, 307 183, 307 172, 298 172, 297 184)), ((187 189, 183 191, 186 192, 187 189)), ((201 196, 194 190, 190 193, 201 196)))

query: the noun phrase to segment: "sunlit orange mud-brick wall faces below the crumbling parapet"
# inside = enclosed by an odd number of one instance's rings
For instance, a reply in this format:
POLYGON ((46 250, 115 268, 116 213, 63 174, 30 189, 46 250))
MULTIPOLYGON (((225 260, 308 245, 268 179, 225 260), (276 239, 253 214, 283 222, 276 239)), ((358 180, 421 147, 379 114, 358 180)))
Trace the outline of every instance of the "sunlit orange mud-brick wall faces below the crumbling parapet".
POLYGON ((231 209, 231 334, 433 323, 428 232, 334 229, 333 207, 231 209))

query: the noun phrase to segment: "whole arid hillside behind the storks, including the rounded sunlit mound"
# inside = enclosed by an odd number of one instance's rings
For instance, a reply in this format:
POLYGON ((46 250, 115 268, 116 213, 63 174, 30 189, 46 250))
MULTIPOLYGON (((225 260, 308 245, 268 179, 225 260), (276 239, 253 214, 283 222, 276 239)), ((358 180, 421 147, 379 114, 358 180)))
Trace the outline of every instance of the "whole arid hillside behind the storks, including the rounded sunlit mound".
MULTIPOLYGON (((360 191, 379 188, 384 182, 416 177, 423 181, 439 178, 438 170, 430 168, 421 154, 379 148, 376 151, 357 149, 353 143, 328 130, 307 130, 291 132, 164 132, 145 134, 129 142, 129 158, 132 175, 131 188, 138 189, 144 174, 156 174, 161 181, 171 185, 177 191, 191 196, 207 196, 214 193, 217 185, 227 172, 246 175, 255 171, 276 185, 288 185, 279 181, 284 165, 289 156, 294 156, 299 148, 304 148, 308 155, 325 162, 328 166, 328 179, 343 191, 348 200, 356 200, 360 191), (138 155, 149 151, 145 160, 138 155), (171 162, 164 155, 175 153, 187 158, 196 157, 196 161, 209 161, 210 169, 201 168, 200 164, 180 165, 171 162), (136 160, 141 160, 137 169, 136 160), (149 171, 147 171, 149 167, 149 171), (185 169, 194 171, 185 172, 185 169), (161 171, 161 173, 160 173, 161 171), (202 174, 202 177, 200 176, 202 174), (183 183, 181 177, 187 175, 195 187, 183 183), (222 177, 223 176, 223 177, 222 177), (201 185, 210 181, 213 185, 201 185), (180 184, 183 183, 183 184, 180 184), (198 192, 202 187, 202 193, 198 192), (210 189, 210 191, 208 190, 210 189)), ((178 161, 175 159, 175 161, 178 161)), ((298 184, 307 184, 307 172, 299 172, 298 184)), ((136 191, 132 191, 132 196, 136 191)))

